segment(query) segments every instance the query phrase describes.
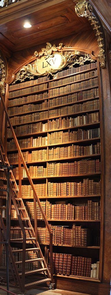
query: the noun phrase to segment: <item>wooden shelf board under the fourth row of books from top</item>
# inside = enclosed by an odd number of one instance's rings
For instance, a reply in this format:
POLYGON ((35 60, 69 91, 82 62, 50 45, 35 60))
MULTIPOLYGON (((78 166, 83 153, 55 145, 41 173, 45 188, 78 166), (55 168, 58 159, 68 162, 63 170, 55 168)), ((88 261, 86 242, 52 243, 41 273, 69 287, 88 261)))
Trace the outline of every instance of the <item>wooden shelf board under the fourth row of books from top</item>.
MULTIPOLYGON (((41 110, 34 110, 34 111, 30 111, 30 112, 26 111, 24 113, 16 113, 16 114, 9 115, 9 118, 12 118, 12 117, 15 117, 15 116, 21 116, 21 115, 25 115, 25 114, 33 114, 33 113, 37 113, 37 112, 43 112, 43 111, 50 110, 50 109, 56 109, 56 108, 62 107, 62 106, 84 103, 86 101, 91 101, 91 100, 94 100, 94 99, 97 99, 97 98, 99 98, 99 97, 96 96, 96 97, 92 97, 92 98, 81 99, 81 100, 78 100, 78 101, 72 101, 72 102, 68 102, 66 104, 59 104, 59 105, 56 105, 56 106, 50 106, 48 108, 41 109, 41 110)), ((30 104, 30 102, 29 102, 29 104, 30 104)))

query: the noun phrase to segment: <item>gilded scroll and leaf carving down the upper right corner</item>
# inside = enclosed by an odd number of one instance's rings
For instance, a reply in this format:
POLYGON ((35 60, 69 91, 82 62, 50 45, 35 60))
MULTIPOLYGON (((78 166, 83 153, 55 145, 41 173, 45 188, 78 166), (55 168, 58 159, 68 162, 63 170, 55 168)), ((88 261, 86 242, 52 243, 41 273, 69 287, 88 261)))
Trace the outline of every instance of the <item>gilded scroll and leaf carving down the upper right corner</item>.
POLYGON ((91 3, 86 0, 79 0, 75 6, 75 11, 78 17, 87 17, 90 24, 92 25, 95 35, 97 37, 98 46, 99 46, 99 61, 101 68, 105 68, 105 32, 102 26, 102 23, 97 16, 94 8, 91 3))

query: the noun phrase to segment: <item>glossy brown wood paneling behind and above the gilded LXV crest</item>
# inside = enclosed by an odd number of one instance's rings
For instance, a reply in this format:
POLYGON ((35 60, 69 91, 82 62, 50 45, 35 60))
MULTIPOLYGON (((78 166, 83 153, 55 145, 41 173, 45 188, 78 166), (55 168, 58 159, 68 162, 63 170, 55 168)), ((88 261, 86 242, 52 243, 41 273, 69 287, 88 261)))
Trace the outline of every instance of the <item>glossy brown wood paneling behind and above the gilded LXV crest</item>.
MULTIPOLYGON (((82 34, 78 33, 68 35, 68 37, 62 37, 57 40, 48 39, 47 41, 49 41, 52 45, 55 44, 56 46, 58 46, 58 44, 62 42, 63 45, 69 45, 77 49, 79 48, 81 51, 83 49, 90 50, 91 52, 93 51, 94 55, 97 55, 99 53, 97 39, 92 29, 83 32, 82 34)), ((40 52, 42 47, 46 47, 46 43, 13 53, 12 57, 9 60, 9 76, 7 82, 10 81, 13 73, 17 73, 17 69, 21 68, 23 64, 27 64, 27 61, 30 60, 35 50, 40 52)))

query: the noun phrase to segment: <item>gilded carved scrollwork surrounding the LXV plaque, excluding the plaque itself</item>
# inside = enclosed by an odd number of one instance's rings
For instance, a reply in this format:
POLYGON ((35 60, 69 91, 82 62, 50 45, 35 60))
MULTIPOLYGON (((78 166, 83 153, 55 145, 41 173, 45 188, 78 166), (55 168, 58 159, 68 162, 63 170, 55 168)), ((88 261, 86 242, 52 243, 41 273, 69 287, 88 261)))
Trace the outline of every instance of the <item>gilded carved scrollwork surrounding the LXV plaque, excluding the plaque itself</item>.
POLYGON ((45 76, 51 74, 53 76, 57 71, 61 71, 64 67, 73 67, 75 64, 83 65, 85 61, 92 62, 97 60, 97 56, 92 55, 90 50, 81 50, 79 48, 63 46, 62 43, 58 47, 51 45, 49 42, 46 43, 46 48, 42 48, 41 52, 37 53, 35 51, 32 58, 22 65, 22 67, 17 68, 13 73, 10 83, 15 83, 16 81, 25 81, 26 78, 33 79, 35 76, 45 76), (44 58, 53 58, 56 54, 61 55, 61 65, 58 68, 49 68, 44 73, 40 73, 38 70, 38 62, 44 58))

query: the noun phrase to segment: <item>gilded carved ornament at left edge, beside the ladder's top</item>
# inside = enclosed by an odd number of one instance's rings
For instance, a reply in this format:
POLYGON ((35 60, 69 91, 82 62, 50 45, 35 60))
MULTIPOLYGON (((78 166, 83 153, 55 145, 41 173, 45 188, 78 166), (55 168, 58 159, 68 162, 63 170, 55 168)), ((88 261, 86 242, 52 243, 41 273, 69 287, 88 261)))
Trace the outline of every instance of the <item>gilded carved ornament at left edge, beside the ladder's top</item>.
POLYGON ((8 65, 7 60, 0 50, 0 92, 4 95, 6 88, 6 80, 8 76, 8 65))

